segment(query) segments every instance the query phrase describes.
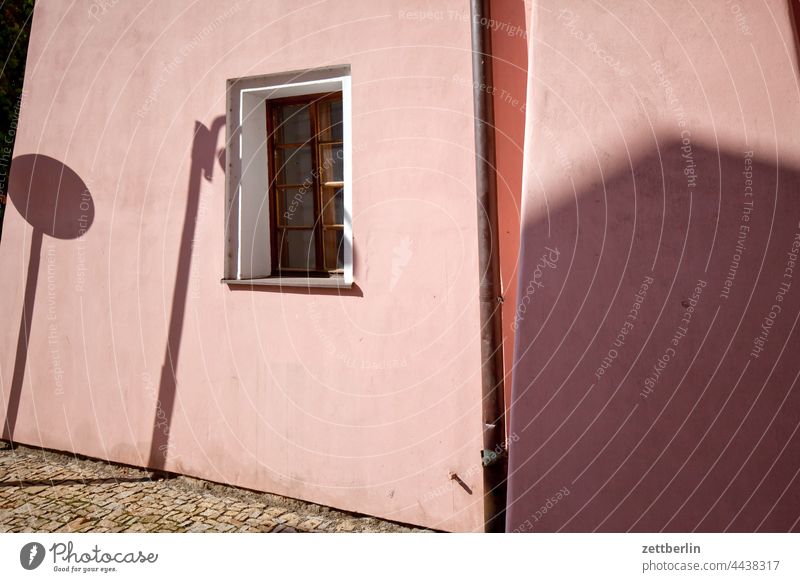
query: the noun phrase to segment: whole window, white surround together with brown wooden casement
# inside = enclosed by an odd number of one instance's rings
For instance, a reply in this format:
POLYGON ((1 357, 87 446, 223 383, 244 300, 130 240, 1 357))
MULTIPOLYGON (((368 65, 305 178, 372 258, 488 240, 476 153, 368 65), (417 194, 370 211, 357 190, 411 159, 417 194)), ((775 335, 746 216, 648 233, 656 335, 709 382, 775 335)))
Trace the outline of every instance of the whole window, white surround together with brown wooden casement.
POLYGON ((347 65, 229 79, 223 282, 353 285, 347 65))

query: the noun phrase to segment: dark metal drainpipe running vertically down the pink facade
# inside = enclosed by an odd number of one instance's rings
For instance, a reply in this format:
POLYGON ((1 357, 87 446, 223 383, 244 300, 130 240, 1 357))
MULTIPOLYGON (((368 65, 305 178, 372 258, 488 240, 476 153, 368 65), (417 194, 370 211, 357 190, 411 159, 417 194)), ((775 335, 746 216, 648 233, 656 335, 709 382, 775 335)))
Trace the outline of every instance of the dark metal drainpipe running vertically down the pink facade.
POLYGON ((505 402, 500 254, 497 224, 492 39, 489 0, 470 0, 475 104, 475 167, 478 197, 478 263, 481 317, 484 518, 487 532, 505 531, 505 402), (498 454, 500 453, 500 454, 498 454))

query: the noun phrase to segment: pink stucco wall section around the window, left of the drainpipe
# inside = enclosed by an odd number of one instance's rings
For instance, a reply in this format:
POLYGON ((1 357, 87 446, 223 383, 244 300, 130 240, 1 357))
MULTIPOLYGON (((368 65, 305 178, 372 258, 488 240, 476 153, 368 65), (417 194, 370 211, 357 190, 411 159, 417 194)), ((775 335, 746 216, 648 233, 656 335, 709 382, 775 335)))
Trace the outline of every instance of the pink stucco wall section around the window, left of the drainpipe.
MULTIPOLYGON (((0 245, 0 413, 13 413, 13 438, 480 530, 467 11, 456 0, 37 3, 0 245), (226 79, 342 64, 355 289, 221 284, 226 79), (57 238, 35 219, 53 218, 52 175, 20 203, 34 162, 69 169, 75 205, 85 185, 86 232, 57 238)), ((56 222, 80 222, 65 204, 56 222)))

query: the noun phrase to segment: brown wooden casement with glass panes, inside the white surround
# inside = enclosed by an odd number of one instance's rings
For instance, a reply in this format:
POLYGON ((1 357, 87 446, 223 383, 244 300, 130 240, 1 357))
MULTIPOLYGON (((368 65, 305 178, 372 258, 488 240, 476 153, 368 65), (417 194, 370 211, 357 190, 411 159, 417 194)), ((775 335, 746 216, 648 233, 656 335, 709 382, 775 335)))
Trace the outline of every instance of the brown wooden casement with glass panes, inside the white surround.
POLYGON ((272 99, 266 107, 272 275, 341 276, 342 93, 272 99))

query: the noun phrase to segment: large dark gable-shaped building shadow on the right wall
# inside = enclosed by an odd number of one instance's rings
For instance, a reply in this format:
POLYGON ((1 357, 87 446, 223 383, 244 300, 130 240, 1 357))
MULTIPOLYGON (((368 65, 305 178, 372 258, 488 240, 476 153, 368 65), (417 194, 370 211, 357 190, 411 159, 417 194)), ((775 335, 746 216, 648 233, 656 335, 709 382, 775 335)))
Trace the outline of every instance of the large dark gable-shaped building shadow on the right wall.
POLYGON ((798 531, 800 170, 638 151, 526 202, 507 529, 798 531))

